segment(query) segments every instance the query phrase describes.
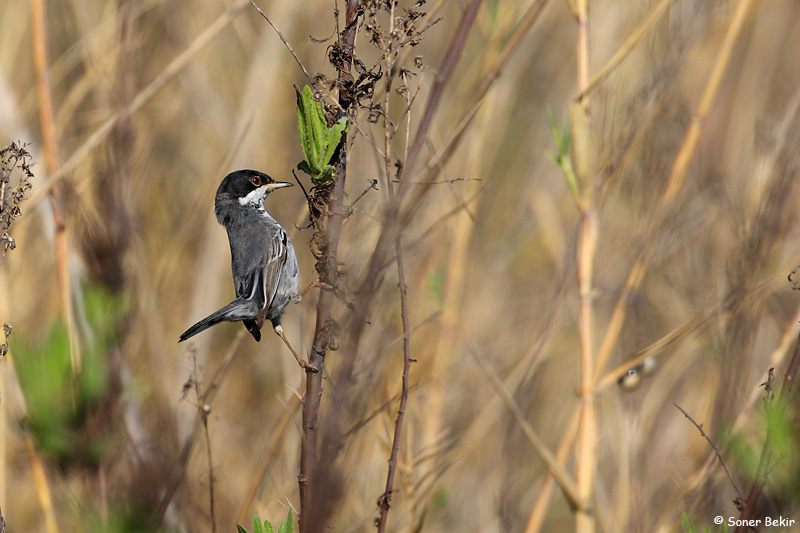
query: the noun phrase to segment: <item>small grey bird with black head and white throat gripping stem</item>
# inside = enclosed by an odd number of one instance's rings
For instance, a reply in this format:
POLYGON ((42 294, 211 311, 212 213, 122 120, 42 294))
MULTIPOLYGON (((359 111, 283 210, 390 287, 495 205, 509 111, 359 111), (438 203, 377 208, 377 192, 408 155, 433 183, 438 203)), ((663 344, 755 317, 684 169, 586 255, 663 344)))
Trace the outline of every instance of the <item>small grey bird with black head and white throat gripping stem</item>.
POLYGON ((264 209, 264 199, 269 193, 291 186, 257 170, 237 170, 222 180, 214 199, 214 213, 228 231, 236 299, 184 331, 178 342, 220 322, 240 320, 258 342, 261 326, 269 320, 298 364, 316 372, 297 355, 283 334, 284 308, 289 302, 298 303, 302 299, 297 256, 286 230, 264 209))

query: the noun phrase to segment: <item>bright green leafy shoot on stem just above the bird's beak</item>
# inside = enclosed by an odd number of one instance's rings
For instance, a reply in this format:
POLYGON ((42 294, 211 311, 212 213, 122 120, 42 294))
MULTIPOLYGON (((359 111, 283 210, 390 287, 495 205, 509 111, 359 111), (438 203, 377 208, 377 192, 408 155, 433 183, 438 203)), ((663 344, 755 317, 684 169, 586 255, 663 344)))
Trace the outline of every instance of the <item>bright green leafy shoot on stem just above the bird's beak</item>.
POLYGON ((350 129, 350 121, 341 118, 329 128, 325 108, 321 102, 314 100, 311 88, 306 85, 302 93, 297 89, 295 91, 300 146, 306 156, 297 168, 311 176, 315 185, 321 185, 333 179, 334 169, 330 162, 342 136, 350 129))

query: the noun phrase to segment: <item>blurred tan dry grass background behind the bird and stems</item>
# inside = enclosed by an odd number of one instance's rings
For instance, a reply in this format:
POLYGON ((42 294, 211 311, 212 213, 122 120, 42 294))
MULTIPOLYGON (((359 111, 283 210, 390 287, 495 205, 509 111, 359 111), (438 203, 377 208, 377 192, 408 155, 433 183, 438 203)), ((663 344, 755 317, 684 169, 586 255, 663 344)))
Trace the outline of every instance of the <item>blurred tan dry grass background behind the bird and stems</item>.
MULTIPOLYGON (((97 464, 56 464, 37 451, 18 422, 26 405, 12 364, 14 341, 36 345, 64 316, 51 197, 37 191, 56 169, 42 151, 35 3, 0 0, 2 144, 30 142, 39 162, 34 196, 14 233, 17 249, 0 265, 0 321, 14 326, 11 353, 0 363, 0 505, 9 531, 49 531, 54 523, 60 531, 150 530, 150 518, 181 470, 181 449, 197 418, 194 395, 182 399, 193 372, 191 355, 207 386, 241 329, 221 325, 189 347, 176 343, 188 325, 232 296, 225 232, 212 213, 214 192, 235 168, 291 179, 290 169, 302 159, 292 84, 305 80, 249 4, 47 2, 56 166, 68 163, 63 185, 54 190, 66 216, 78 338, 86 343, 91 335, 80 305, 89 285, 103 285, 126 308, 104 355, 113 376, 105 408, 83 426, 82 438, 104 435, 106 452, 97 464), (198 46, 198 37, 207 42, 198 46), (153 80, 164 83, 137 102, 153 80), (87 140, 131 102, 135 112, 86 151, 87 140), (37 478, 39 466, 44 476, 37 478), (52 511, 43 509, 48 490, 52 511), (137 520, 114 525, 127 515, 137 520)), ((411 51, 426 65, 412 81, 421 86, 420 102, 463 9, 455 1, 433 4, 425 9, 445 18, 411 51)), ((498 0, 481 7, 431 128, 431 150, 454 131, 531 4, 498 0)), ((308 38, 331 35, 333 5, 262 4, 312 73, 333 76, 327 44, 308 38)), ((759 384, 772 366, 783 379, 794 347, 800 299, 786 282, 800 262, 800 4, 794 0, 753 2, 746 11, 708 114, 695 122, 700 136, 685 181, 662 223, 646 230, 665 203, 670 169, 738 6, 705 0, 590 3, 592 73, 627 35, 644 30, 590 93, 598 224, 590 295, 595 350, 620 298, 627 311, 609 364, 598 375, 676 328, 696 325, 656 346, 658 371, 635 392, 616 385, 598 390, 593 509, 601 531, 675 531, 682 511, 698 525, 710 525, 716 515, 737 516, 736 493, 711 461, 708 443, 672 403, 705 424, 747 490, 751 480, 724 436, 735 428, 760 449, 759 384), (660 4, 668 6, 665 14, 646 22, 660 4), (626 294, 642 250, 650 260, 640 285, 626 294)), ((546 153, 555 152, 548 107, 561 121, 578 93, 576 43, 569 4, 547 2, 483 98, 454 156, 433 177, 449 183, 430 185, 425 195, 415 194, 423 185, 412 190, 418 205, 403 241, 417 362, 392 531, 574 527, 558 490, 549 505, 541 496, 543 484, 551 483, 545 481, 547 469, 474 355, 489 362, 545 444, 554 452, 563 448, 559 456, 573 472, 569 434, 574 435, 581 382, 579 215, 561 170, 546 153)), ((362 57, 377 59, 363 35, 357 46, 362 57)), ((413 109, 412 122, 421 109, 413 109)), ((401 121, 399 114, 393 119, 401 121)), ((359 120, 381 138, 379 125, 370 126, 364 114, 359 120)), ((403 137, 394 145, 398 153, 403 137)), ((372 179, 385 183, 382 159, 368 139, 355 135, 350 154, 351 198, 372 179)), ((429 179, 419 170, 406 177, 429 179)), ((382 191, 366 194, 345 223, 339 260, 349 287, 364 274, 384 200, 382 191)), ((306 222, 297 187, 270 197, 267 209, 287 228, 306 222)), ((290 234, 305 284, 314 278, 311 231, 290 234)), ((395 270, 388 268, 358 356, 359 409, 345 420, 354 426, 366 422, 343 450, 344 497, 331 521, 337 531, 370 530, 383 491, 402 371, 396 282, 395 270)), ((290 307, 284 320, 289 339, 305 353, 316 297, 312 292, 290 307)), ((350 316, 341 302, 336 316, 343 322, 350 316)), ((236 354, 218 383, 209 418, 215 519, 225 531, 236 521, 249 523, 253 513, 276 521, 286 515, 287 502, 297 506, 304 375, 272 335, 260 344, 242 340, 236 354)), ((352 356, 329 353, 326 376, 335 376, 341 358, 352 356)), ((335 386, 326 380, 323 418, 335 386)), ((211 529, 205 448, 202 438, 192 448, 159 526, 164 530, 211 529)), ((791 474, 785 463, 776 467, 787 468, 791 474)), ((798 499, 789 490, 770 490, 768 484, 762 503, 770 516, 800 519, 798 499)))

